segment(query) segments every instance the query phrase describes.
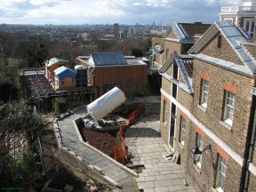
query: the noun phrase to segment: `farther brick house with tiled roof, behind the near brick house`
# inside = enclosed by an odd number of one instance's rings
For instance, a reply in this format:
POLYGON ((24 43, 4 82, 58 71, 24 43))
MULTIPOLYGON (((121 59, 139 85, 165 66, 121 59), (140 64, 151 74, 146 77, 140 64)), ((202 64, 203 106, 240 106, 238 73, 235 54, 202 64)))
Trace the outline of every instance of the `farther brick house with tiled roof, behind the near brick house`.
POLYGON ((211 24, 195 23, 172 23, 171 28, 163 37, 153 37, 152 47, 155 50, 156 68, 161 67, 170 57, 172 52, 186 54, 188 50, 203 36, 211 24))

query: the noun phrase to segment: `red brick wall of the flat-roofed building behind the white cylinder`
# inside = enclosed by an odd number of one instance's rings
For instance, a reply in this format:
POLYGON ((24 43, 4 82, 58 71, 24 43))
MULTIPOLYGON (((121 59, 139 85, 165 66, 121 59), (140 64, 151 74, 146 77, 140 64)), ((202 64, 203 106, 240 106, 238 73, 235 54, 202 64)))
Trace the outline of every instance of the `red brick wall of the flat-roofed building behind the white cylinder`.
POLYGON ((100 87, 103 94, 103 85, 121 84, 127 95, 145 92, 148 84, 148 66, 121 66, 94 68, 93 85, 100 87))

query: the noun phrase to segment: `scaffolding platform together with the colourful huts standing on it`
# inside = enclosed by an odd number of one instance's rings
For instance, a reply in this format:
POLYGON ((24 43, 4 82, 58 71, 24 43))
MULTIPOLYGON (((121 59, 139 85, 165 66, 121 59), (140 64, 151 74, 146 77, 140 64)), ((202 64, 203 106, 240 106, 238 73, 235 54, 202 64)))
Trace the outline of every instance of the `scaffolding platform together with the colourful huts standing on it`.
POLYGON ((68 64, 69 68, 63 65, 59 68, 63 62, 54 59, 51 66, 55 69, 47 68, 45 62, 45 68, 25 69, 22 72, 25 99, 36 106, 39 112, 51 110, 53 98, 73 96, 75 101, 83 102, 92 101, 98 95, 97 87, 87 84, 90 79, 83 66, 75 66, 73 69, 68 64))

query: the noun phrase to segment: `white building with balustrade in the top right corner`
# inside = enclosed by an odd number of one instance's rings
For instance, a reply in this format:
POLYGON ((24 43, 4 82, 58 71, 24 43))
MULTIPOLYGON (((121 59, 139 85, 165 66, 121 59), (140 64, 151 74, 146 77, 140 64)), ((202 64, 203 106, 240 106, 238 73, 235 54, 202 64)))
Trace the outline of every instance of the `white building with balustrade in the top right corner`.
POLYGON ((243 0, 242 6, 221 7, 220 20, 228 20, 237 27, 244 28, 254 36, 256 26, 256 0, 243 0))

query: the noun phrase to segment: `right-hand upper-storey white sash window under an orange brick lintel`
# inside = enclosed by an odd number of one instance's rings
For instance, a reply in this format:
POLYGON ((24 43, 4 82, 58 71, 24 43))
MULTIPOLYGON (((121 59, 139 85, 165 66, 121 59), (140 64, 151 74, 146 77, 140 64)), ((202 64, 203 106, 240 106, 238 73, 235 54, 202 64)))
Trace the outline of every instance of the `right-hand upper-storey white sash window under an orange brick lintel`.
POLYGON ((234 112, 236 104, 236 94, 225 91, 225 110, 224 110, 224 122, 228 125, 233 124, 234 112))

